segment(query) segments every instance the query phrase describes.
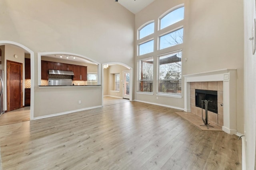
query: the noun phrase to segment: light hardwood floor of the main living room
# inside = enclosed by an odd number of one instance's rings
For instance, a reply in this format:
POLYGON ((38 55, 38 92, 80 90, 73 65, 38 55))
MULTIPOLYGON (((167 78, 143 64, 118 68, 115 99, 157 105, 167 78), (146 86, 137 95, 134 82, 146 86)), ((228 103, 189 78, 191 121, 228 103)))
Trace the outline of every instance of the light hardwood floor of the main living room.
POLYGON ((241 170, 241 141, 124 102, 0 127, 3 170, 241 170))

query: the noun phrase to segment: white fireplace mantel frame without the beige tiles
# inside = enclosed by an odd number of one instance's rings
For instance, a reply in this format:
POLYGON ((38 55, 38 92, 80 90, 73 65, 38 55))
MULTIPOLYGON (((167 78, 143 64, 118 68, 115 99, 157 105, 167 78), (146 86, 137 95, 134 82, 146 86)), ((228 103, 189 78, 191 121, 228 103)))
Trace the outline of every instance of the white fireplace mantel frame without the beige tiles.
POLYGON ((190 112, 190 82, 223 81, 223 126, 222 130, 236 134, 236 69, 184 75, 184 111, 190 112))

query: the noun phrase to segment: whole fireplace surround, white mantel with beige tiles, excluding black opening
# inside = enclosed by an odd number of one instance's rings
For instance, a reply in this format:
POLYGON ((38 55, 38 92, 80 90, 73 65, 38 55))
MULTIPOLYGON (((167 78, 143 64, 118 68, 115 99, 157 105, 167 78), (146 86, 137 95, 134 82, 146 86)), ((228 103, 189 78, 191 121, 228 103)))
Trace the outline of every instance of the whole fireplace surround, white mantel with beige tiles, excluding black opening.
POLYGON ((214 119, 216 125, 222 126, 224 132, 228 134, 236 134, 236 69, 223 69, 184 75, 184 111, 202 115, 202 112, 200 112, 201 108, 194 106, 193 94, 190 93, 194 93, 194 88, 211 90, 211 88, 215 88, 215 84, 217 84, 217 88, 219 88, 218 109, 220 104, 223 103, 223 118, 221 115, 222 113, 220 113, 219 116, 216 113, 209 114, 208 118, 214 119), (207 89, 209 86, 210 89, 207 89), (223 101, 221 98, 222 92, 223 101), (190 98, 192 100, 191 103, 190 98))

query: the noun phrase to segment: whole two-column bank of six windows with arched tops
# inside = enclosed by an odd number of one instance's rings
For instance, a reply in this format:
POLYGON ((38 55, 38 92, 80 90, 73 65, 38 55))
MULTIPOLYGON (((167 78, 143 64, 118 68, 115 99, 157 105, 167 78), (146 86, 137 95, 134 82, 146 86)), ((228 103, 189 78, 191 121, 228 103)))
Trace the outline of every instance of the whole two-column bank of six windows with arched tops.
MULTIPOLYGON (((137 30, 137 92, 181 98, 184 6, 180 4, 137 30), (158 29, 154 28, 158 25, 158 29), (156 38, 157 37, 157 38, 156 38), (177 51, 177 49, 180 49, 177 51), (148 58, 150 57, 150 58, 148 58), (153 60, 158 61, 153 69, 153 60), (157 75, 153 80, 153 74, 157 75), (156 84, 153 87, 153 84, 156 84)), ((157 16, 156 16, 157 17, 157 16)))

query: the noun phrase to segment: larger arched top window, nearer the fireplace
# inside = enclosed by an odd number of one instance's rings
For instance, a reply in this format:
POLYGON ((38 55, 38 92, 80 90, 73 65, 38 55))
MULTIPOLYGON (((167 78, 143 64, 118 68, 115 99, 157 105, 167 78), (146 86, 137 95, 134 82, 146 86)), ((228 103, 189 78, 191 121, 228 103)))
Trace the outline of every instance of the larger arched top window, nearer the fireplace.
POLYGON ((160 19, 160 29, 168 27, 184 19, 184 6, 177 8, 160 19))

